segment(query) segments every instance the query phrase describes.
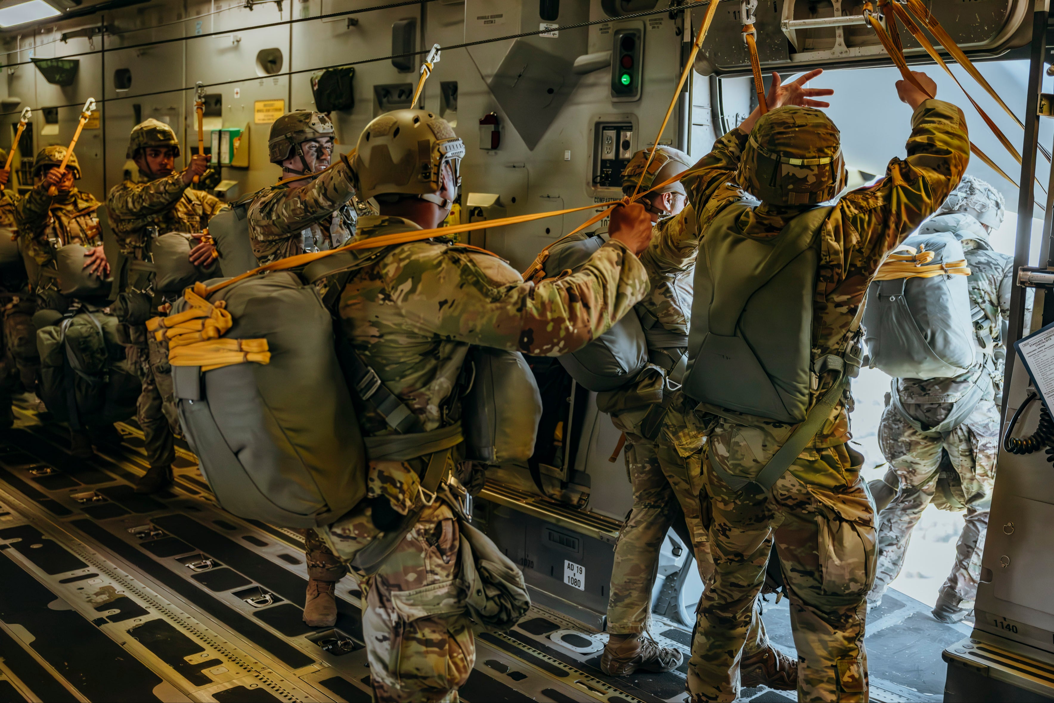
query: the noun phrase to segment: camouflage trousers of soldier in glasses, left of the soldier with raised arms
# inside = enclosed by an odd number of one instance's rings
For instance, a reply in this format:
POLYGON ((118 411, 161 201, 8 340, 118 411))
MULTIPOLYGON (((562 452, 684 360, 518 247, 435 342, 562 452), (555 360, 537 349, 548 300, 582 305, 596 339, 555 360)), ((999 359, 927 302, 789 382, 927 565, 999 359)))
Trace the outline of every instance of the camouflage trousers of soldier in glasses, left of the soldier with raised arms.
MULTIPOLYGON (((666 533, 683 513, 690 547, 704 584, 714 577, 706 532, 709 497, 703 487, 700 453, 682 457, 665 436, 651 442, 626 435, 626 470, 633 487, 633 507, 619 532, 607 604, 607 631, 632 634, 651 627, 651 591, 659 551, 666 533)), ((746 653, 768 646, 765 628, 754 609, 746 653)))

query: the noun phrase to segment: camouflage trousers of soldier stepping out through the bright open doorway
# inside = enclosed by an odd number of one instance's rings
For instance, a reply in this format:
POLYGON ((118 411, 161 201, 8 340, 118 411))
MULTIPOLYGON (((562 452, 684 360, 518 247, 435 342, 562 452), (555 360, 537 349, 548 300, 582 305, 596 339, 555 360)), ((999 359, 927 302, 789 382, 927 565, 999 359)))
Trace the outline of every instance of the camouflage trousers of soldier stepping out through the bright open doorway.
POLYGON ((956 546, 955 565, 941 590, 952 591, 963 601, 973 601, 977 595, 995 464, 999 455, 999 409, 993 401, 981 401, 965 422, 951 432, 933 437, 916 430, 890 406, 882 414, 878 438, 885 461, 900 479, 900 490, 879 514, 878 566, 868 600, 881 599, 900 573, 912 530, 934 497, 943 450, 959 474, 967 510, 965 524, 956 546))

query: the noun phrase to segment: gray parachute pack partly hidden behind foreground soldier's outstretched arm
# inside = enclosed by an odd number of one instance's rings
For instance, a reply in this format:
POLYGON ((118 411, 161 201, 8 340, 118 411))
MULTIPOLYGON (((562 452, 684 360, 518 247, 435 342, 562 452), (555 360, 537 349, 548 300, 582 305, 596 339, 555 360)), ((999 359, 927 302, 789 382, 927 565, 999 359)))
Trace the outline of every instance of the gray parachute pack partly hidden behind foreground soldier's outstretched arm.
MULTIPOLYGON (((549 249, 547 278, 581 269, 604 245, 600 235, 579 233, 549 249)), ((581 386, 590 391, 611 391, 631 382, 648 363, 648 343, 636 313, 628 313, 582 349, 558 357, 581 386)))

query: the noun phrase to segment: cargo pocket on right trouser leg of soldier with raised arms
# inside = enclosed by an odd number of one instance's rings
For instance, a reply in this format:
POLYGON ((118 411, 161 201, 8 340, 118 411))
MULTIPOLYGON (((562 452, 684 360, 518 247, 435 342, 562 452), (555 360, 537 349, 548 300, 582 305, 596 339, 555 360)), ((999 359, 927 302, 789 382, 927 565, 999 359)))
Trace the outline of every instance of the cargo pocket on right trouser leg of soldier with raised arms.
POLYGON ((817 545, 823 592, 866 593, 875 581, 875 513, 863 484, 836 493, 808 486, 816 501, 817 545))

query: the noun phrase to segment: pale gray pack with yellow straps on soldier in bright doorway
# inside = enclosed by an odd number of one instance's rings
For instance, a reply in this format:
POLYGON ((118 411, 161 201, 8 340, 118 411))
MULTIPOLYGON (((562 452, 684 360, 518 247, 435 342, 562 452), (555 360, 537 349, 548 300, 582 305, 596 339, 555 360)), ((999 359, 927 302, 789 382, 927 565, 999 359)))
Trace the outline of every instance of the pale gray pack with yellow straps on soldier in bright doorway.
POLYGON ((867 287, 868 364, 895 378, 958 376, 977 352, 962 245, 951 232, 933 232, 903 247, 911 253, 892 254, 867 287))

